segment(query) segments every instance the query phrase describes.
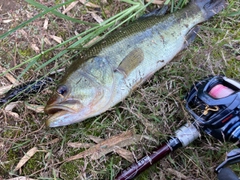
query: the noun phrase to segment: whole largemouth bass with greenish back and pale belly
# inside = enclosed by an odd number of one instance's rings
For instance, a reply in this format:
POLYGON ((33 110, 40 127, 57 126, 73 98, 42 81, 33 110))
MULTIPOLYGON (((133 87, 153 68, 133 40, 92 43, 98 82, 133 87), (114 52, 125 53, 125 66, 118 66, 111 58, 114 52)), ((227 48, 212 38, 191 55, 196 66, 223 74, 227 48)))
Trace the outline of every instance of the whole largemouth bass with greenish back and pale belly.
POLYGON ((193 41, 197 24, 224 7, 225 0, 193 0, 110 34, 70 65, 47 102, 46 125, 65 126, 107 111, 193 41))

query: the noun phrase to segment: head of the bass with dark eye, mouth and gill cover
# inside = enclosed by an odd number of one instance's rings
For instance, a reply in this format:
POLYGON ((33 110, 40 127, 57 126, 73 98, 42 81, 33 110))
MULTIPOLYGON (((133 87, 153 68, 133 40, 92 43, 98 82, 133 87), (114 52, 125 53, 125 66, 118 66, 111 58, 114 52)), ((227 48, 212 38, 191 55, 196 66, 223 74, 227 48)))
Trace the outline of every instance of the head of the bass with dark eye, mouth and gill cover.
POLYGON ((73 124, 92 117, 105 104, 103 90, 88 78, 72 78, 58 86, 45 106, 48 127, 73 124))

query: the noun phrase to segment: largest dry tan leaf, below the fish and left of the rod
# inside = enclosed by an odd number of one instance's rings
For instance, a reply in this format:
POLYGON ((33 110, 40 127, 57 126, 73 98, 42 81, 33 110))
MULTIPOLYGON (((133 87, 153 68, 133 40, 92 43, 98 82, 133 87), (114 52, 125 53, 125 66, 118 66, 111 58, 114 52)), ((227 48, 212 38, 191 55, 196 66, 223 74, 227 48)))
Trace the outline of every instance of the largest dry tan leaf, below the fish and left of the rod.
POLYGON ((134 144, 136 141, 139 141, 140 138, 141 136, 134 135, 133 131, 126 131, 120 135, 112 136, 109 139, 106 139, 75 156, 71 156, 65 161, 69 162, 90 155, 91 159, 96 160, 112 151, 115 151, 116 148, 134 144))

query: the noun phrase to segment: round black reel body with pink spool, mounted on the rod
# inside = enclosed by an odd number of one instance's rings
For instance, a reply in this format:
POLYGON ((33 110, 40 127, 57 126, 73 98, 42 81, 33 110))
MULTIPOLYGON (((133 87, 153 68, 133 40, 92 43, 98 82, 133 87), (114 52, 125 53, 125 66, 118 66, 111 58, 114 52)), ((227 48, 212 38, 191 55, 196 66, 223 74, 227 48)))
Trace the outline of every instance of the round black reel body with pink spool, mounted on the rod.
POLYGON ((186 109, 205 132, 221 141, 240 140, 239 82, 210 76, 196 82, 185 99, 186 109))

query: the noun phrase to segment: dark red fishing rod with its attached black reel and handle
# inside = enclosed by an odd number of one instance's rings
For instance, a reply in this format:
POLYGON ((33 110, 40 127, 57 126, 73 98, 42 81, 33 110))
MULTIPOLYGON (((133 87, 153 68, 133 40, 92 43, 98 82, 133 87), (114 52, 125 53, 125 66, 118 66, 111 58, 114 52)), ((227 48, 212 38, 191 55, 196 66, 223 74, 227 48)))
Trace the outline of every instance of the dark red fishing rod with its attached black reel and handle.
MULTIPOLYGON (((240 140, 240 83, 225 76, 209 76, 196 82, 185 97, 186 110, 194 119, 180 127, 169 140, 152 154, 143 157, 117 175, 116 180, 135 178, 148 167, 200 136, 199 130, 220 141, 240 140)), ((218 179, 238 180, 226 166, 240 162, 240 149, 228 153, 215 172, 218 179)))

